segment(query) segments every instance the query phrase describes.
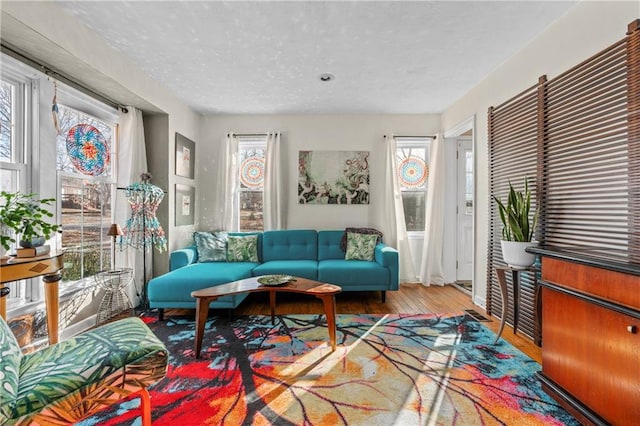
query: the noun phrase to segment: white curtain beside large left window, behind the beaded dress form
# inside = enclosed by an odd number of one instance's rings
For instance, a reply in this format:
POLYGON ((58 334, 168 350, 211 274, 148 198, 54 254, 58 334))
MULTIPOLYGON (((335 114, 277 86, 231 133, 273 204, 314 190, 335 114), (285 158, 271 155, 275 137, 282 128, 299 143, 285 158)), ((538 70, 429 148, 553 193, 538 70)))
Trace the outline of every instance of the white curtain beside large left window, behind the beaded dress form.
MULTIPOLYGON (((134 182, 140 182, 140 175, 147 171, 147 150, 144 140, 144 125, 142 123, 142 111, 134 107, 126 107, 127 112, 120 111, 119 143, 117 152, 118 161, 118 188, 125 188, 134 182)), ((129 202, 124 191, 117 190, 114 200, 115 223, 123 227, 130 215, 129 202)), ((117 246, 116 246, 117 247, 117 246)), ((134 283, 129 287, 129 297, 134 306, 140 302, 139 295, 144 285, 142 252, 139 250, 116 250, 116 266, 132 268, 134 271, 134 283)), ((152 253, 147 253, 147 265, 152 264, 152 253)), ((149 273, 150 268, 147 268, 149 273)))

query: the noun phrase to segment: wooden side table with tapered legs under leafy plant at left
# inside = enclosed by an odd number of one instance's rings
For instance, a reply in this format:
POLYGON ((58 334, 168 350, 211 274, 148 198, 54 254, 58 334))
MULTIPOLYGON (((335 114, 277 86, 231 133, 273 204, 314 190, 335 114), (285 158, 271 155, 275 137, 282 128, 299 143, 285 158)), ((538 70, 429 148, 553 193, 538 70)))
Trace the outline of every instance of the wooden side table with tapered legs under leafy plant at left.
MULTIPOLYGON (((2 259, 0 261, 0 289, 5 283, 42 277, 44 301, 47 309, 47 333, 49 344, 58 343, 58 283, 62 279, 62 252, 51 252, 44 256, 2 259)), ((0 297, 0 316, 7 319, 7 301, 0 297)))

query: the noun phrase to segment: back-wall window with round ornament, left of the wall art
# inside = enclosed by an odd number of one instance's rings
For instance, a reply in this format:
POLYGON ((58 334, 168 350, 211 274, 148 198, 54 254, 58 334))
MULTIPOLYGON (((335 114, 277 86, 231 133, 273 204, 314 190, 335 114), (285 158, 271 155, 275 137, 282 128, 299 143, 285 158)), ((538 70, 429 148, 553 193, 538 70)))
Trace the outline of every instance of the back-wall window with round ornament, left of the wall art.
POLYGON ((239 227, 240 231, 262 231, 264 193, 264 161, 266 137, 238 137, 239 167, 239 227))

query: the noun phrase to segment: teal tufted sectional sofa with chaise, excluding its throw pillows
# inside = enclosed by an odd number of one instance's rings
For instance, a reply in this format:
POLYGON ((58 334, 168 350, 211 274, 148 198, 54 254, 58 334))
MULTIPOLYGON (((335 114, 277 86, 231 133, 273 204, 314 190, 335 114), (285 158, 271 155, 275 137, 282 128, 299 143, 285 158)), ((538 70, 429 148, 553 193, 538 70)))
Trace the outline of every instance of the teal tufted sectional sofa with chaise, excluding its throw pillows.
MULTIPOLYGON (((258 236, 258 262, 198 262, 196 246, 170 255, 170 271, 149 281, 149 306, 195 308, 191 292, 252 276, 287 274, 342 287, 342 291, 398 290, 398 251, 384 243, 375 247, 374 260, 345 260, 340 247, 343 230, 279 230, 258 233, 229 233, 258 236)), ((234 309, 247 294, 221 297, 216 309, 234 309)))

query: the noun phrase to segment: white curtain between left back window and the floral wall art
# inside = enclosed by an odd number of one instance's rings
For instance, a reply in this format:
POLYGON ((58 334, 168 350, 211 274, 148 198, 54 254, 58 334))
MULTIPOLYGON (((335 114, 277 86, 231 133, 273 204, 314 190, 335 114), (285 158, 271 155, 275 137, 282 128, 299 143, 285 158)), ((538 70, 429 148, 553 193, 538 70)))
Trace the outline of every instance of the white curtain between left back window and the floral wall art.
POLYGON ((285 229, 280 133, 267 133, 264 171, 264 229, 285 229))

